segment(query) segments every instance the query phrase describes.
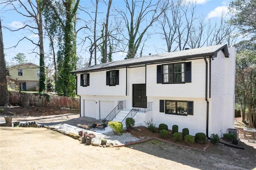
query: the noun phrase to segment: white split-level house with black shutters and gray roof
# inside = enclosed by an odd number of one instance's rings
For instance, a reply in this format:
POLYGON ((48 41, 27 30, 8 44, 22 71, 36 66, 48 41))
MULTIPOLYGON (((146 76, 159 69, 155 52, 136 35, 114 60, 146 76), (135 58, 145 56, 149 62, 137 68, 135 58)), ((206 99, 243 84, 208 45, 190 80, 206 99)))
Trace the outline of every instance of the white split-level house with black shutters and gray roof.
POLYGON ((136 107, 128 117, 135 115, 137 126, 152 118, 156 127, 178 125, 179 132, 188 128, 192 135, 207 136, 234 127, 234 47, 124 59, 72 73, 77 75, 82 117, 122 121, 136 107))

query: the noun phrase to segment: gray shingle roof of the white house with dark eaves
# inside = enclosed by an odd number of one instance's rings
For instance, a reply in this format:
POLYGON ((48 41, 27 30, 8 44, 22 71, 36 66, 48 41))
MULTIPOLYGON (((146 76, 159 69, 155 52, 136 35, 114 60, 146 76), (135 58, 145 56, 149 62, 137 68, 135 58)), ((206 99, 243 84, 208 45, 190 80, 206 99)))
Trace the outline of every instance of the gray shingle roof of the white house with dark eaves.
POLYGON ((163 63, 165 61, 179 61, 179 60, 182 61, 186 59, 203 58, 203 57, 209 57, 213 55, 216 56, 218 51, 220 50, 224 52, 225 57, 228 57, 227 45, 213 45, 209 47, 187 49, 183 51, 174 51, 170 53, 148 55, 144 57, 136 57, 131 59, 112 61, 108 63, 101 63, 98 65, 93 65, 90 67, 85 67, 83 69, 71 71, 71 73, 86 73, 86 72, 100 71, 100 70, 106 70, 106 69, 122 68, 122 67, 127 67, 132 65, 163 63))

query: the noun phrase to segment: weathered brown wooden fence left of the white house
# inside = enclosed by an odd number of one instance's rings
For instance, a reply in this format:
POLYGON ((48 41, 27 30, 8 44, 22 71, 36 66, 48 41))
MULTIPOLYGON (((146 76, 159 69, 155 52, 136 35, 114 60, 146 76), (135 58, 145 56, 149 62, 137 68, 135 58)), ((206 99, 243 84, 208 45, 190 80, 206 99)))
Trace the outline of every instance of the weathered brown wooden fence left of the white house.
MULTIPOLYGON (((12 105, 21 105, 22 95, 25 95, 25 92, 9 91, 10 103, 12 105)), ((80 109, 79 98, 48 94, 42 95, 39 93, 26 93, 26 95, 29 95, 30 106, 80 109)))

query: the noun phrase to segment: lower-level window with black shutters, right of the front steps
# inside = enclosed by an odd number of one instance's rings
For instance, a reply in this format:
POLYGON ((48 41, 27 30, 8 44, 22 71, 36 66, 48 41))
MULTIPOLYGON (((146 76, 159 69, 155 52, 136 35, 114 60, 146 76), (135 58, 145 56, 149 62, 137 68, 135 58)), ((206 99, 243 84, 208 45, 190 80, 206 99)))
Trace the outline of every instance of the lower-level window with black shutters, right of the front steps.
POLYGON ((160 100, 160 112, 173 115, 193 115, 193 101, 160 100))

